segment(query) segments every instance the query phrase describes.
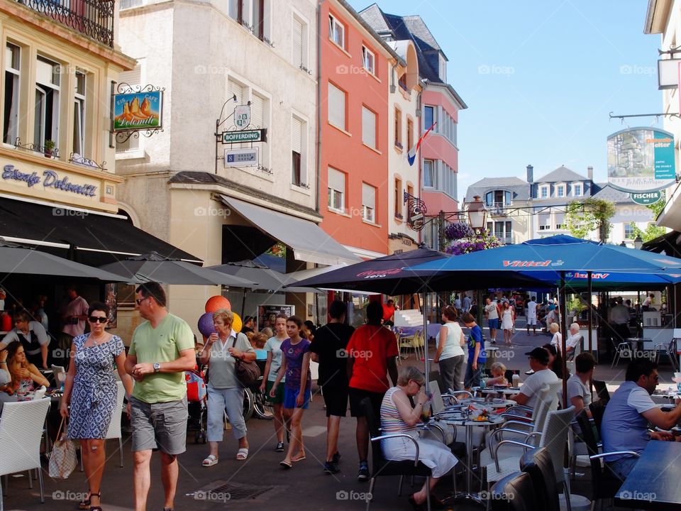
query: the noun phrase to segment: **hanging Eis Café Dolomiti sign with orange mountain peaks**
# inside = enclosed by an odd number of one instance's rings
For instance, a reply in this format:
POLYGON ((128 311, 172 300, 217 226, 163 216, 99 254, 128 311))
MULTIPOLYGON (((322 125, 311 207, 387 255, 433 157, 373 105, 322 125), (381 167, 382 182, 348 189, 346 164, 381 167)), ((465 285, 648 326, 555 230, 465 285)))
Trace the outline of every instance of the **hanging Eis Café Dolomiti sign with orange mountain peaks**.
POLYGON ((148 90, 114 95, 114 131, 162 128, 163 91, 148 90))

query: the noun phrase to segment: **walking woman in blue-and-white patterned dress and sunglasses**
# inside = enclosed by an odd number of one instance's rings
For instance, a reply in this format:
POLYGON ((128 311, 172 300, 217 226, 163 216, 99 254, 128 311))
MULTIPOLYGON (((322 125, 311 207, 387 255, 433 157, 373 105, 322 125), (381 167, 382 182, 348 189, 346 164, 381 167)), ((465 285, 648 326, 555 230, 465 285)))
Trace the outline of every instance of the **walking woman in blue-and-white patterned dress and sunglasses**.
POLYGON ((108 318, 109 307, 105 304, 98 302, 90 305, 87 311, 90 333, 73 339, 71 363, 60 407, 62 417, 70 417, 69 438, 80 441, 89 484, 87 498, 79 504, 82 510, 101 511, 99 485, 106 461, 104 439, 111 418, 116 417, 118 420, 114 363, 126 388, 126 395, 130 397, 133 392, 133 381, 125 370, 126 350, 123 341, 104 331, 108 318))

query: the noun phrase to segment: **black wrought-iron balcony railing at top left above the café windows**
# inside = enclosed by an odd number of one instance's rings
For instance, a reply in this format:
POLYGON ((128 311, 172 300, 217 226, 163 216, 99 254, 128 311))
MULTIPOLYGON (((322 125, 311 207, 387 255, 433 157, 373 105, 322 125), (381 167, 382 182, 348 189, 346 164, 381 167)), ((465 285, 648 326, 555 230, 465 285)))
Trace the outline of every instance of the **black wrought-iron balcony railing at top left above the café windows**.
POLYGON ((16 0, 33 11, 114 48, 114 0, 16 0))

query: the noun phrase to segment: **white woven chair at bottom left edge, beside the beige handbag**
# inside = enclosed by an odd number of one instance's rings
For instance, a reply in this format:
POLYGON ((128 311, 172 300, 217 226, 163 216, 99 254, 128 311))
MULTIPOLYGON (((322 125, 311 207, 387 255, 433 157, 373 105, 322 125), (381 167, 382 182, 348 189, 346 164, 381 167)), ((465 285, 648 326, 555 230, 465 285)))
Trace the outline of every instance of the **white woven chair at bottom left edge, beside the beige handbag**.
MULTIPOLYGON (((0 417, 0 476, 38 469, 40 502, 45 503, 43 471, 40 467, 40 441, 43 438, 43 424, 48 416, 50 400, 6 402, 0 417)), ((0 511, 2 485, 0 481, 0 511)))

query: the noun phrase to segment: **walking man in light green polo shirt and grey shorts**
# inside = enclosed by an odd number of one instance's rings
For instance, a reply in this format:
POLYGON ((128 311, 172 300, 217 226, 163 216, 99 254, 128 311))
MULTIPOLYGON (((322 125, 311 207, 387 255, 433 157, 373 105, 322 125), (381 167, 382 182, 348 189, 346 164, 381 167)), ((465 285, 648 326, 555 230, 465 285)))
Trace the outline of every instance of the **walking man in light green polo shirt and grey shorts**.
POLYGON ((131 396, 131 426, 135 468, 135 511, 145 511, 151 485, 153 449, 161 451, 164 511, 172 511, 177 488, 177 455, 187 440, 187 385, 184 371, 194 369, 194 334, 187 322, 165 308, 165 291, 158 282, 135 290, 140 316, 126 371, 135 379, 131 396))

